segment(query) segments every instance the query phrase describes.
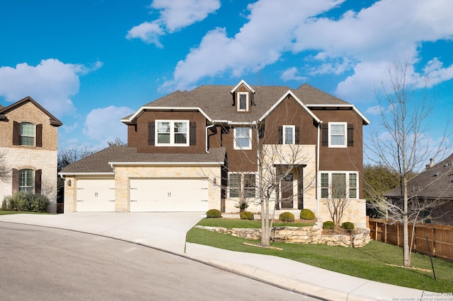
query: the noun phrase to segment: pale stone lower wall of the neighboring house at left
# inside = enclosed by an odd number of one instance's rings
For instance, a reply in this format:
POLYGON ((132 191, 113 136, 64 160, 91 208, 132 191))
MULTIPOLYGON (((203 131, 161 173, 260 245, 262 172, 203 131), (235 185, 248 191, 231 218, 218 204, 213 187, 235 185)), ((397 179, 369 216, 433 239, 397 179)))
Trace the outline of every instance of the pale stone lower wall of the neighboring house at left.
MULTIPOLYGON (((41 194, 50 200, 50 212, 57 212, 57 151, 45 151, 38 148, 0 148, 8 167, 17 170, 42 170, 41 194)), ((0 182, 0 201, 12 194, 12 178, 0 182)))

